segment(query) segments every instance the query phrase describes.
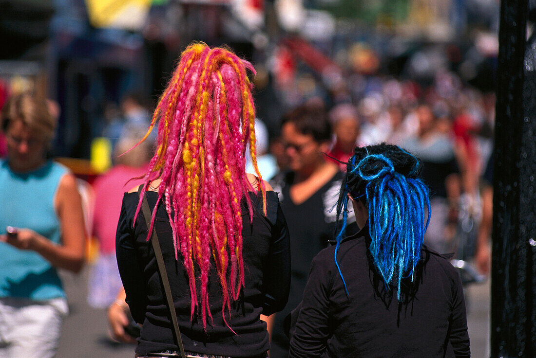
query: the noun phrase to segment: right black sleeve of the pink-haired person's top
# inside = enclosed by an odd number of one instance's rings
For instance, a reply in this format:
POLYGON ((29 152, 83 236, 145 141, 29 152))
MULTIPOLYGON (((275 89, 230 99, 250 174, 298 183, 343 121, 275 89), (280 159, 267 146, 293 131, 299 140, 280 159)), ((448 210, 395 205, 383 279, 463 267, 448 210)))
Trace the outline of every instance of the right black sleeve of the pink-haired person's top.
POLYGON ((291 244, 287 222, 279 203, 272 238, 263 281, 263 315, 266 316, 285 308, 291 287, 291 244))

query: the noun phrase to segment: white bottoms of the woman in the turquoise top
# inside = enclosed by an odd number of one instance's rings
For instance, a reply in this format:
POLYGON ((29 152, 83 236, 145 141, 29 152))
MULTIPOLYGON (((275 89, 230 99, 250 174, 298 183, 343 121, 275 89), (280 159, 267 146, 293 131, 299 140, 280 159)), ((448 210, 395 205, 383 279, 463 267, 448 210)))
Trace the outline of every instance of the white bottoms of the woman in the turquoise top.
POLYGON ((52 358, 56 354, 67 300, 0 298, 0 357, 52 358))

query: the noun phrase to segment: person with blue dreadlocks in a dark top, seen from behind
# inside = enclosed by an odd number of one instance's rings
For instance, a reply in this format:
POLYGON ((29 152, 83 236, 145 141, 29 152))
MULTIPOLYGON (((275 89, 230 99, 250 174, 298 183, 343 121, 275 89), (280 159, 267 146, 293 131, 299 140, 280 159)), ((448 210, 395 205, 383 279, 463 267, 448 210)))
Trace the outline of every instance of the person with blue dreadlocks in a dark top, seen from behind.
POLYGON ((400 147, 355 148, 336 245, 313 260, 292 314, 291 358, 470 357, 458 272, 423 245, 431 212, 420 171, 400 147), (348 203, 360 230, 345 237, 348 203))

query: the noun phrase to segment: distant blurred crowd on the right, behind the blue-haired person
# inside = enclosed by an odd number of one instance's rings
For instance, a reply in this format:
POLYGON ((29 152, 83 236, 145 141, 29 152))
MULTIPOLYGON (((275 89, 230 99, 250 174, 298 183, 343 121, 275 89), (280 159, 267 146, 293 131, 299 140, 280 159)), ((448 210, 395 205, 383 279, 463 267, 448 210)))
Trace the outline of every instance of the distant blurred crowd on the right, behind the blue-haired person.
MULTIPOLYGON (((494 93, 482 93, 446 71, 437 71, 426 85, 356 73, 341 82, 328 101, 319 96, 306 99, 329 111, 333 134, 327 157, 344 171, 355 146, 382 142, 419 156, 425 163, 422 177, 433 197, 428 245, 440 252, 459 251, 460 258, 473 257, 482 205, 490 205, 487 194, 487 202, 482 202, 482 193, 492 180, 488 164, 493 150, 494 93)), ((272 139, 270 149, 281 170, 287 153, 278 142, 272 139)), ((478 265, 487 272, 489 261, 482 259, 478 265)))

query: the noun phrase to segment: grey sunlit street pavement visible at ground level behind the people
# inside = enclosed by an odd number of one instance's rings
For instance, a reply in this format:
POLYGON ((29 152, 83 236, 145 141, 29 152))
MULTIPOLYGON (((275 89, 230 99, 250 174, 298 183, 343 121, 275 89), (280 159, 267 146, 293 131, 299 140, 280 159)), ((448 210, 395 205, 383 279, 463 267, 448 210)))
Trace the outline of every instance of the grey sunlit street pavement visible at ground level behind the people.
MULTIPOLYGON (((65 319, 56 358, 132 358, 134 345, 117 344, 108 338, 106 311, 88 306, 87 272, 86 267, 77 276, 61 275, 71 313, 65 319)), ((466 290, 472 358, 489 358, 489 290, 489 279, 466 290)))

